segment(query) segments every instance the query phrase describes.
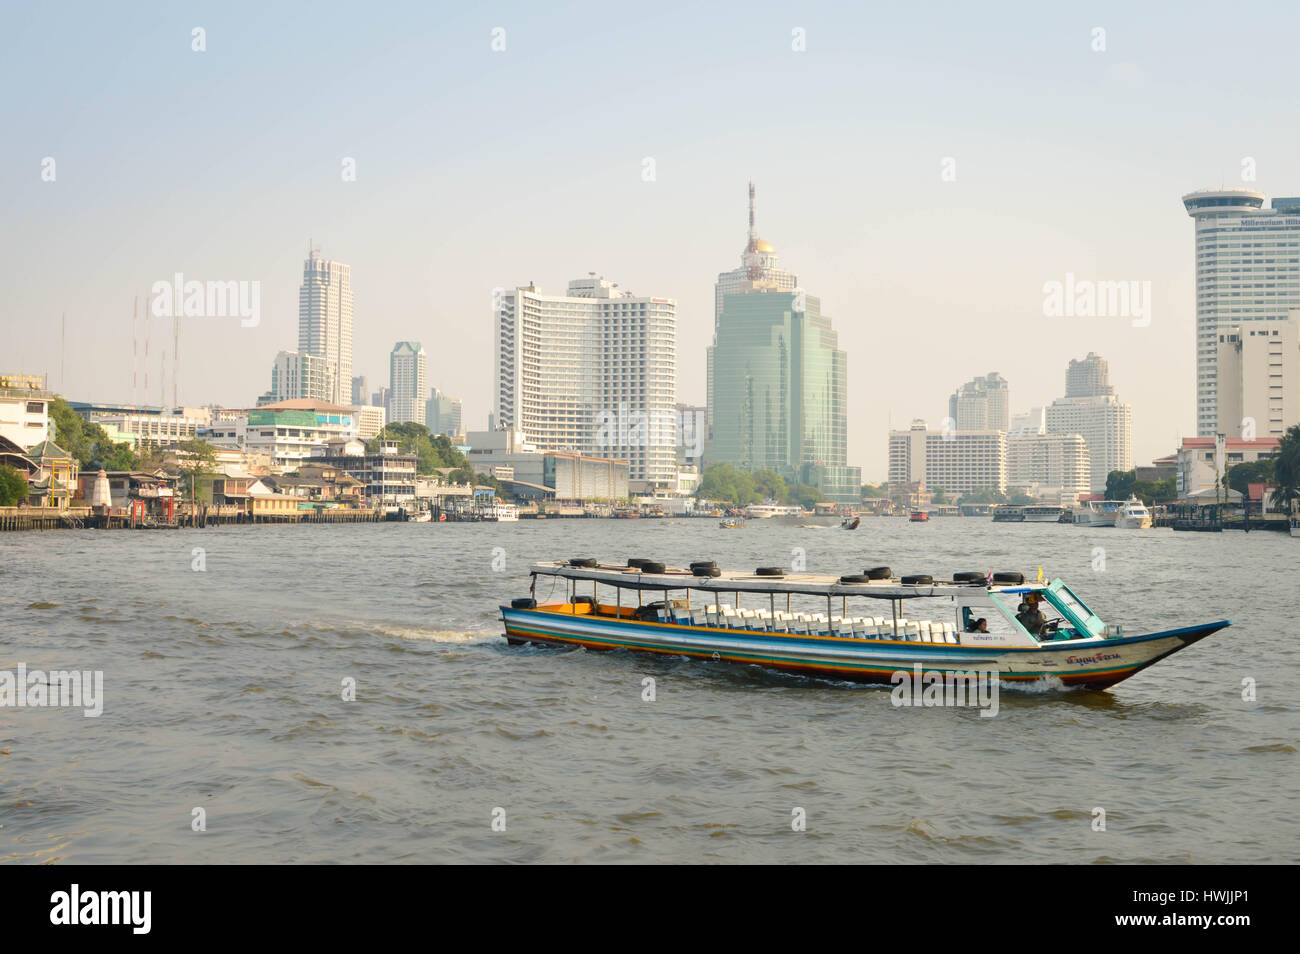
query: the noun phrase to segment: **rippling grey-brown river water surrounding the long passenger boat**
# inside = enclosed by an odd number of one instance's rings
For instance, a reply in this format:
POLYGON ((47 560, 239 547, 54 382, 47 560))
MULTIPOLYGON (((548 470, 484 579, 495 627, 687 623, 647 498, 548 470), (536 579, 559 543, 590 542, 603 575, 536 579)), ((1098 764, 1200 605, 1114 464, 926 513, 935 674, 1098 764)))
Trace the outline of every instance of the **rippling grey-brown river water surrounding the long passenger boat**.
POLYGON ((99 719, 0 708, 0 859, 1295 862, 1297 571, 1280 534, 958 519, 0 534, 0 669, 105 680, 99 719), (500 638, 533 560, 794 547, 826 572, 1043 564, 1130 633, 1236 625, 1105 693, 1004 688, 994 719, 500 638))

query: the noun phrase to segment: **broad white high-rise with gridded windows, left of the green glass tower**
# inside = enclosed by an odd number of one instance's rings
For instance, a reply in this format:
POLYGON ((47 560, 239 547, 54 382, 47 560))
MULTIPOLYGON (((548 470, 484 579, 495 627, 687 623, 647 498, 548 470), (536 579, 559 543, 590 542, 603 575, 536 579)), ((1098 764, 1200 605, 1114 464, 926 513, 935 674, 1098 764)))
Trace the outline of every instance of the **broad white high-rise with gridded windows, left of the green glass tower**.
POLYGON ((541 450, 627 460, 632 480, 673 480, 676 302, 590 274, 563 295, 533 283, 497 309, 493 424, 541 450))

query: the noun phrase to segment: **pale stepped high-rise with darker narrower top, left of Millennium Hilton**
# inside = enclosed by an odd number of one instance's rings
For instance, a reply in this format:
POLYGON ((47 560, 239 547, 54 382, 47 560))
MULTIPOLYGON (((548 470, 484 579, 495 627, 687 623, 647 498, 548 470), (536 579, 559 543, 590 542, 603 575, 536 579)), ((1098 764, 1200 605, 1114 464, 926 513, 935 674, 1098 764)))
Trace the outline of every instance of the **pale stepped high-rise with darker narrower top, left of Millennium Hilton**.
POLYGON ((1066 372, 1066 396, 1058 398, 1046 408, 1046 433, 1079 434, 1088 443, 1092 493, 1106 489, 1106 477, 1112 471, 1132 469, 1132 407, 1115 396, 1105 359, 1089 354, 1083 361, 1071 361, 1066 372), (1079 370, 1080 365, 1088 367, 1087 373, 1079 370), (1075 390, 1101 393, 1071 396, 1071 383, 1075 390))

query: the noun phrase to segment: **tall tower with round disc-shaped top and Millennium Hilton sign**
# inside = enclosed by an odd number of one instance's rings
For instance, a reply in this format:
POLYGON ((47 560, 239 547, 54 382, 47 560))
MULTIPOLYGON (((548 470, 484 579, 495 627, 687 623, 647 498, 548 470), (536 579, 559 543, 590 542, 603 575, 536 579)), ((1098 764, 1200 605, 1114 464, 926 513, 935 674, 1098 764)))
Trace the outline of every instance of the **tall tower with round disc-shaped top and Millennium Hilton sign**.
MULTIPOLYGON (((1196 220, 1196 434, 1218 425, 1218 337, 1300 305, 1300 199, 1248 188, 1183 196, 1196 220)), ((1096 473, 1093 473, 1096 480, 1096 473)))

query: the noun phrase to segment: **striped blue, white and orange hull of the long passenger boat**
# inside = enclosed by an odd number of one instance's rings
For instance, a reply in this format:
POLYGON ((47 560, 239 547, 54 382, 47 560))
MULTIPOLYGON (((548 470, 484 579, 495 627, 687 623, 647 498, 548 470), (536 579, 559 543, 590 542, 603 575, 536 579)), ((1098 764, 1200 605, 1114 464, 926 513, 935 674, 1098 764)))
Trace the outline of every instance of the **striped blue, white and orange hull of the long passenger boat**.
POLYGON ((511 643, 582 646, 760 665, 854 682, 890 682, 896 672, 996 669, 1000 681, 1056 678, 1065 686, 1105 689, 1223 629, 1227 620, 1105 641, 1061 641, 1035 647, 798 636, 715 626, 502 608, 511 643))

